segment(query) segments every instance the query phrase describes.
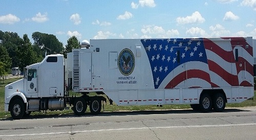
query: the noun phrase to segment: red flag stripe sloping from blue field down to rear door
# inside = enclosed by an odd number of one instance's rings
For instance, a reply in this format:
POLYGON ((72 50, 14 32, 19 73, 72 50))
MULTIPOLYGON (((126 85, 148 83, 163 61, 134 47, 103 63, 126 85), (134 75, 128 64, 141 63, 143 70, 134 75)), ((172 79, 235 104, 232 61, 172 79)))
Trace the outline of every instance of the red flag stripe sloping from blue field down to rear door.
POLYGON ((215 72, 222 77, 231 86, 239 86, 238 76, 232 75, 214 61, 208 60, 209 70, 215 72))

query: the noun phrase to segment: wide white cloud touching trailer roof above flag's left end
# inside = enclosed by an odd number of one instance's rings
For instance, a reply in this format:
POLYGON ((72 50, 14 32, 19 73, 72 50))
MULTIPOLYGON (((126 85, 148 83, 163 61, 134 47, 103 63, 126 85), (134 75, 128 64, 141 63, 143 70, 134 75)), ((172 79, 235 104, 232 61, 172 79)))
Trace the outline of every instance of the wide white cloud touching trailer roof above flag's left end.
MULTIPOLYGON (((168 30, 166 32, 162 26, 157 26, 157 25, 144 25, 143 28, 141 29, 141 32, 144 35, 151 34, 151 35, 154 35, 155 37, 159 37, 159 38, 177 37, 180 34, 178 30, 174 30, 174 29, 168 30)), ((144 37, 142 37, 142 38, 144 38, 144 37)), ((147 37, 149 37, 149 36, 147 36, 147 37)))

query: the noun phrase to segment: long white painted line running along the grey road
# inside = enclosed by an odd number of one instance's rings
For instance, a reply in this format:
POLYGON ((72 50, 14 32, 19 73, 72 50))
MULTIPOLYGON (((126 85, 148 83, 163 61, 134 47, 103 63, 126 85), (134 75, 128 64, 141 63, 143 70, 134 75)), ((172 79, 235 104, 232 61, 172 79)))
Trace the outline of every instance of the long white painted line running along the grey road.
POLYGON ((248 126, 256 125, 250 124, 223 124, 223 125, 191 125, 191 126, 165 126, 165 127, 138 127, 138 128, 118 128, 118 129, 99 129, 99 130, 84 130, 74 132, 54 132, 54 133, 35 133, 35 134, 14 134, 14 135, 0 135, 3 136, 27 136, 27 135, 45 135, 45 134, 69 134, 69 133, 82 133, 82 132, 101 132, 101 131, 119 131, 119 130, 136 130, 136 129, 160 129, 160 128, 195 128, 195 127, 223 127, 223 126, 248 126))

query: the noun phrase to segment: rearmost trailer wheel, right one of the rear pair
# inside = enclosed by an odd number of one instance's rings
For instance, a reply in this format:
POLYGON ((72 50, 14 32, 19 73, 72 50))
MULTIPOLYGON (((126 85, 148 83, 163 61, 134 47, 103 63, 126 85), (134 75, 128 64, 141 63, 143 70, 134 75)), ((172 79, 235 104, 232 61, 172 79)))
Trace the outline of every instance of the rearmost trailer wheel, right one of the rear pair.
POLYGON ((214 107, 215 111, 221 112, 224 110, 224 108, 226 106, 225 99, 226 99, 225 96, 221 93, 217 93, 214 96, 213 107, 214 107))

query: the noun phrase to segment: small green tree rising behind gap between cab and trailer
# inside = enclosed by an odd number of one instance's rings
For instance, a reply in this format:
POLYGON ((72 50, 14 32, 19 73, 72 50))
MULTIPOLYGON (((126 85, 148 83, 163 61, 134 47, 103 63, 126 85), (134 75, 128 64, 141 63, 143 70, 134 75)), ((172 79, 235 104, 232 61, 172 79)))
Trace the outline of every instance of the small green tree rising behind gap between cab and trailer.
POLYGON ((76 49, 80 47, 80 41, 77 40, 75 36, 72 36, 67 41, 68 44, 66 45, 65 51, 63 51, 63 55, 65 58, 67 58, 67 53, 72 52, 72 49, 76 49))

